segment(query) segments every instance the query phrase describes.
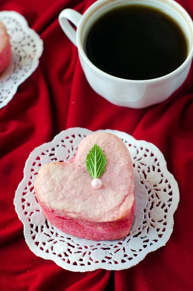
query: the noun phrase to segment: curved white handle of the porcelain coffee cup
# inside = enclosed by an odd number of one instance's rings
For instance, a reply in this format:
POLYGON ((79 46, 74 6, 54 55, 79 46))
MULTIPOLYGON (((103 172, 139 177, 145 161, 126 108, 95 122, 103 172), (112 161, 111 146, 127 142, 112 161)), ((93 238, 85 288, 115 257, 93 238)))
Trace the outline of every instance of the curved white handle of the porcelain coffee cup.
POLYGON ((69 20, 77 27, 82 14, 73 9, 64 9, 59 15, 59 24, 64 33, 68 36, 71 42, 77 47, 76 31, 71 26, 69 20))

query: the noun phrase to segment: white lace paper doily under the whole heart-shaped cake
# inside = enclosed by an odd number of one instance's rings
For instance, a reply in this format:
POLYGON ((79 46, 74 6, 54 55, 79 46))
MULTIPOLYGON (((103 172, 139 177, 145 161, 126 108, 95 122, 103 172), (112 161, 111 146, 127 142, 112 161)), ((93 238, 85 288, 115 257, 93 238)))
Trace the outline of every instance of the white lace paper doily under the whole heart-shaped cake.
POLYGON ((72 128, 60 132, 52 142, 33 150, 24 168, 14 204, 24 225, 25 240, 35 255, 51 259, 70 271, 93 271, 99 268, 130 268, 165 245, 173 231, 173 215, 179 201, 177 182, 166 167, 160 150, 151 143, 135 140, 117 130, 128 147, 135 171, 136 212, 130 234, 116 241, 88 241, 65 234, 47 221, 37 203, 34 181, 40 167, 48 162, 70 160, 80 141, 92 133, 72 128))

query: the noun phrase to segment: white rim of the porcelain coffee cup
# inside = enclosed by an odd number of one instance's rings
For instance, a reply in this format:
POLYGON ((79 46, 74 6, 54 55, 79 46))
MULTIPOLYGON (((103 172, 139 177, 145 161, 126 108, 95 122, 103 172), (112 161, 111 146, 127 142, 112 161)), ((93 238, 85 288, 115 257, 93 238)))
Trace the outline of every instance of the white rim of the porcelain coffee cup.
MULTIPOLYGON (((159 1, 159 0, 158 0, 159 1)), ((80 22, 78 24, 77 27, 77 47, 78 47, 78 51, 81 54, 82 58, 84 59, 84 61, 96 72, 96 73, 100 73, 101 75, 111 79, 112 81, 122 81, 122 82, 129 82, 129 83, 153 83, 153 82, 158 82, 158 81, 164 81, 170 77, 173 77, 174 75, 176 75, 177 73, 180 74, 185 68, 186 66, 191 62, 191 59, 193 58, 193 44, 192 47, 188 53, 188 56, 186 58, 186 60, 178 67, 176 68, 174 71, 172 71, 171 73, 164 75, 162 77, 158 77, 158 78, 154 78, 154 79, 146 79, 146 80, 132 80, 132 79, 123 79, 123 78, 119 78, 119 77, 115 77, 113 75, 110 75, 108 73, 105 73, 104 71, 102 71, 101 69, 99 69, 97 66, 95 66, 89 59, 88 56, 85 53, 85 50, 83 49, 82 46, 82 41, 81 41, 81 28, 82 25, 84 24, 85 18, 87 18, 90 14, 91 11, 93 11, 94 9, 97 8, 97 6, 100 3, 104 3, 104 0, 97 0, 96 2, 94 2, 90 7, 88 7, 88 9, 85 11, 85 13, 83 14, 83 16, 80 19, 80 22)), ((168 0, 168 2, 171 2, 173 4, 175 4, 176 7, 178 7, 183 14, 186 16, 190 27, 192 29, 193 32, 193 20, 191 18, 191 16, 188 14, 188 12, 179 4, 177 3, 175 0, 168 0)), ((144 3, 145 5, 145 3, 144 3)))

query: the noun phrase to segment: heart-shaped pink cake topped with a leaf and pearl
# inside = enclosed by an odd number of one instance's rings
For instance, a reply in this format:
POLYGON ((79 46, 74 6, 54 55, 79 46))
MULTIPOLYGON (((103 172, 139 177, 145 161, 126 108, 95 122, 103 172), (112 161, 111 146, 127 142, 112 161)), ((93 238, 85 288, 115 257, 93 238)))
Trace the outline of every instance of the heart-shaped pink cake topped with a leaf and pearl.
POLYGON ((40 169, 35 193, 46 218, 65 233, 95 241, 123 238, 130 231, 135 212, 129 151, 114 134, 90 134, 81 141, 72 160, 52 162, 40 169), (106 159, 100 189, 91 186, 86 164, 94 145, 106 159))

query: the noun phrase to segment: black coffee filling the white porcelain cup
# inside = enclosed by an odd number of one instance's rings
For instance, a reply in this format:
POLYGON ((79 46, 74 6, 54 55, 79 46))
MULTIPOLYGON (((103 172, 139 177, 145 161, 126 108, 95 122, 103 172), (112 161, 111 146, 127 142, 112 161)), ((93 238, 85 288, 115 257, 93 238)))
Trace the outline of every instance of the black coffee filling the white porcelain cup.
POLYGON ((99 18, 85 43, 88 59, 123 79, 167 75, 187 57, 187 42, 174 19, 146 6, 116 8, 99 18))

